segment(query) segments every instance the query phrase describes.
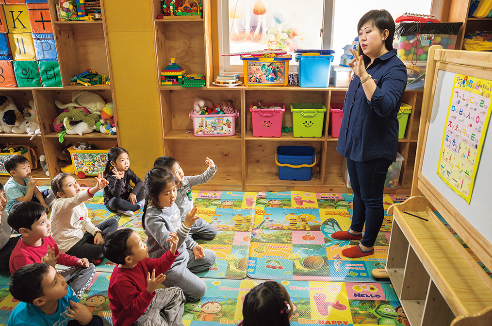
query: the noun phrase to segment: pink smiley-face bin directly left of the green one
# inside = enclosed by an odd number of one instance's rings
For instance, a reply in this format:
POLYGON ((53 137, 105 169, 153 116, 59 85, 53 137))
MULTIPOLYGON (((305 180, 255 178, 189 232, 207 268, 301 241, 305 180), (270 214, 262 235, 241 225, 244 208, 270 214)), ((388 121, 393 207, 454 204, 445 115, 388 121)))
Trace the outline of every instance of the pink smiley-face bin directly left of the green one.
POLYGON ((262 109, 260 103, 252 103, 249 107, 251 120, 253 122, 253 137, 280 137, 282 134, 282 116, 285 112, 283 103, 263 103, 266 107, 262 109), (270 106, 279 106, 281 109, 268 109, 270 106), (256 106, 256 108, 253 108, 256 106))

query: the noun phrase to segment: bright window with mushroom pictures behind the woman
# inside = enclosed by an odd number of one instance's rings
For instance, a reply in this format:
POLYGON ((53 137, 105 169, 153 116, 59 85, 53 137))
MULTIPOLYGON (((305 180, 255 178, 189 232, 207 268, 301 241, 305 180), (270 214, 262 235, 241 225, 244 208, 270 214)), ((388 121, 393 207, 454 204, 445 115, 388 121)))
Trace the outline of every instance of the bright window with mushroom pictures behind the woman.
MULTIPOLYGON (((342 48, 357 36, 357 23, 370 9, 385 8, 393 18, 402 12, 439 15, 442 0, 218 0, 219 53, 263 50, 271 47, 335 50, 334 64, 342 48), (431 10, 432 1, 434 8, 431 10), (437 4, 437 5, 435 5, 437 4)), ((220 71, 243 71, 239 56, 222 57, 220 71)), ((295 65, 291 60, 289 65, 295 65)))

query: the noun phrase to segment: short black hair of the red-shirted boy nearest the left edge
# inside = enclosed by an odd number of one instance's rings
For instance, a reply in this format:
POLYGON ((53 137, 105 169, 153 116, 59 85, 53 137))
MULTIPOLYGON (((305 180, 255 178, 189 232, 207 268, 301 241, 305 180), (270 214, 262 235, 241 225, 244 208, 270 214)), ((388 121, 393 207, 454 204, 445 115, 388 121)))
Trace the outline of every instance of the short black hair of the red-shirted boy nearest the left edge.
POLYGON ((31 229, 34 222, 39 220, 43 212, 48 214, 48 210, 38 202, 21 201, 10 209, 7 217, 7 224, 19 232, 20 228, 31 229))

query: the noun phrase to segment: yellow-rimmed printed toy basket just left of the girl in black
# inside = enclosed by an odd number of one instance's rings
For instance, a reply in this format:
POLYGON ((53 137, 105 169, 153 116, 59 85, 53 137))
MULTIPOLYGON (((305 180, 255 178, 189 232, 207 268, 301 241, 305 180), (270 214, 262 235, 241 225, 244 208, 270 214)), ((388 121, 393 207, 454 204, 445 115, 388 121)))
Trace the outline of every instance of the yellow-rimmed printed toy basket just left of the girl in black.
POLYGON ((79 178, 85 178, 86 175, 97 175, 98 172, 104 171, 106 162, 108 162, 108 149, 79 150, 74 149, 74 146, 70 147, 68 152, 72 159, 73 171, 79 178))

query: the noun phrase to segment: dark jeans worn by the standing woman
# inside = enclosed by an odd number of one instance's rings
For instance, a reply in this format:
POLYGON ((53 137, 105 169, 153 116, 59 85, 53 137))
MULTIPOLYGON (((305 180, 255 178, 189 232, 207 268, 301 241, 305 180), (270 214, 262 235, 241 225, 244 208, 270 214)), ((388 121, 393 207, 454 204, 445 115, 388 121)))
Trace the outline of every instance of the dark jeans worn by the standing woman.
POLYGON ((354 213, 350 228, 362 232, 364 223, 366 224, 361 241, 366 247, 374 245, 383 224, 384 182, 391 163, 390 160, 382 158, 366 162, 355 162, 347 158, 348 174, 354 193, 354 213))

